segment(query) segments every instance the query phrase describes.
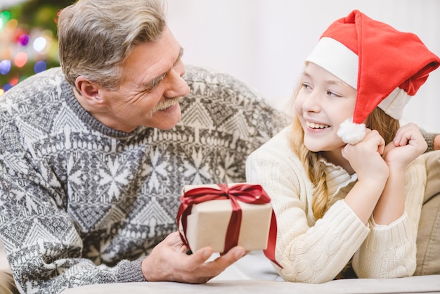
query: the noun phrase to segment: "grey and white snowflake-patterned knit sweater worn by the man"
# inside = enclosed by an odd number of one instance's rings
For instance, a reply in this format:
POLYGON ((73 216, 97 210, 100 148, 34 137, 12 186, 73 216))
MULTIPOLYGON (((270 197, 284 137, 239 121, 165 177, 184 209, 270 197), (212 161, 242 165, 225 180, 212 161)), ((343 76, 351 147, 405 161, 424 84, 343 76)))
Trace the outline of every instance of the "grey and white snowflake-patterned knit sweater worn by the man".
POLYGON ((245 84, 188 66, 168 131, 118 132, 77 103, 60 68, 0 100, 0 236, 22 293, 145 281, 183 184, 245 181, 245 159, 278 115, 245 84))

